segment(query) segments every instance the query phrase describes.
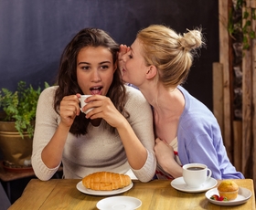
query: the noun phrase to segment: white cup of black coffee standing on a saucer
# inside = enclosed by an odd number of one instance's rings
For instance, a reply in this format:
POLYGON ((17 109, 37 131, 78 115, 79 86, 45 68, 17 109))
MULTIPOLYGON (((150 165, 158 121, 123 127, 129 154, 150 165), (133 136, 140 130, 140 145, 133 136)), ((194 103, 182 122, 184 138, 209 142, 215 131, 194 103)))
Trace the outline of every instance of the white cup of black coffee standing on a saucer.
POLYGON ((211 176, 211 170, 202 163, 188 163, 183 165, 183 179, 189 187, 199 187, 211 176))

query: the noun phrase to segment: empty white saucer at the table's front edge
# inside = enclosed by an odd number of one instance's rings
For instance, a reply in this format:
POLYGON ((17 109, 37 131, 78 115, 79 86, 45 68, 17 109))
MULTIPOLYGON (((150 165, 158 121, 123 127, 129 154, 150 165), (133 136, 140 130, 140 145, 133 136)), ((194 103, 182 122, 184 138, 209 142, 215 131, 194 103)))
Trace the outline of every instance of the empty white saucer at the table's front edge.
POLYGON ((97 203, 101 210, 133 210, 142 205, 141 200, 131 196, 113 196, 104 198, 97 203))

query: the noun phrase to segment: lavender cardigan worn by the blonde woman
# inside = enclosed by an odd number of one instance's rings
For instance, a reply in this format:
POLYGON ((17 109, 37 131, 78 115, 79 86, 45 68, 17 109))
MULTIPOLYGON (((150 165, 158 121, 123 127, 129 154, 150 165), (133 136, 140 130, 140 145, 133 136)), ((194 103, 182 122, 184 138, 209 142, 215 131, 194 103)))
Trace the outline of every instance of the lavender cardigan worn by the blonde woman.
POLYGON ((229 162, 219 124, 212 112, 186 89, 180 86, 178 89, 186 100, 177 130, 181 163, 204 163, 211 169, 215 179, 244 178, 229 162))

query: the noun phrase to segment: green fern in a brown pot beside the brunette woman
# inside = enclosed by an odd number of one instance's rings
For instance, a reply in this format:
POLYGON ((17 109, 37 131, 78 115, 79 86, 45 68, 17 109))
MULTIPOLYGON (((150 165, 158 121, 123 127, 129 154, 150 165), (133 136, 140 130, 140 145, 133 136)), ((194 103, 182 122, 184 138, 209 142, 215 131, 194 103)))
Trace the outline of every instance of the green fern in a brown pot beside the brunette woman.
POLYGON ((40 93, 40 87, 34 89, 25 81, 18 82, 15 92, 0 90, 0 148, 5 167, 31 167, 32 138, 40 93))

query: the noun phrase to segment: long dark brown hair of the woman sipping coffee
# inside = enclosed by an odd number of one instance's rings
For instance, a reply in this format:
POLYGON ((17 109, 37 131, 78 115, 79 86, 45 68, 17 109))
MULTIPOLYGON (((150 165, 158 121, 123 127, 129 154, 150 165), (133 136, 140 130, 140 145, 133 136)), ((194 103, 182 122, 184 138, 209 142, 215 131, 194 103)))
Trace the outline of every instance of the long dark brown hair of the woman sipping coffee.
MULTIPOLYGON (((65 47, 59 63, 59 73, 57 84, 59 88, 55 94, 54 108, 59 113, 59 104, 64 96, 81 93, 77 79, 77 57, 82 47, 106 47, 112 53, 113 64, 118 62, 119 45, 105 31, 98 28, 84 28, 72 38, 68 46, 65 47)), ((121 72, 116 69, 113 74, 112 85, 107 93, 107 97, 124 117, 128 118, 129 113, 124 110, 126 100, 125 88, 121 78, 121 72)), ((86 134, 90 120, 86 119, 84 113, 76 117, 70 132, 75 135, 86 134)), ((109 129, 114 132, 110 125, 109 129)))

